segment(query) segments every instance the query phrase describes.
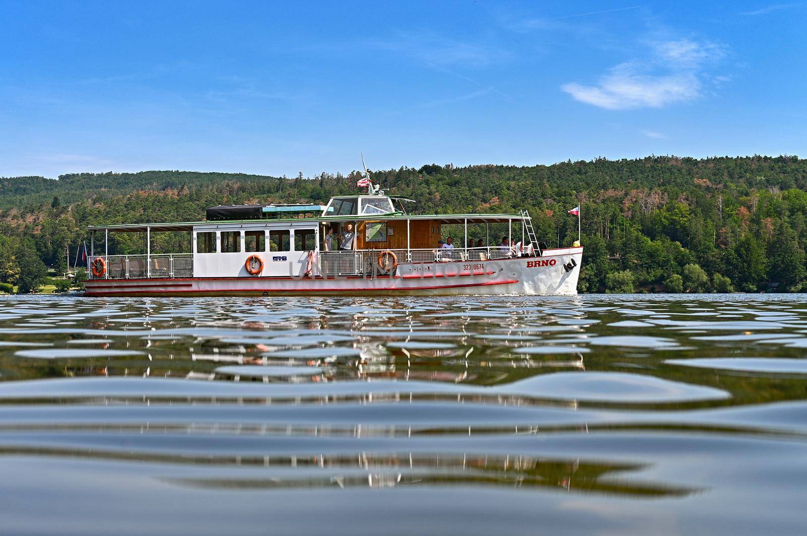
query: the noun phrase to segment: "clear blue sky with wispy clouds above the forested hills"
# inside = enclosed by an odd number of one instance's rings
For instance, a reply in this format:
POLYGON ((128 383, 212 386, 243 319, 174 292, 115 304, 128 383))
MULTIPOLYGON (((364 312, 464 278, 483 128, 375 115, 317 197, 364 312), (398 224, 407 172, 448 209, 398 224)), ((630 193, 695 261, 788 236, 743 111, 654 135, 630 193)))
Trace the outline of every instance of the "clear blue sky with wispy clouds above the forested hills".
POLYGON ((807 156, 805 2, 0 0, 0 176, 807 156))

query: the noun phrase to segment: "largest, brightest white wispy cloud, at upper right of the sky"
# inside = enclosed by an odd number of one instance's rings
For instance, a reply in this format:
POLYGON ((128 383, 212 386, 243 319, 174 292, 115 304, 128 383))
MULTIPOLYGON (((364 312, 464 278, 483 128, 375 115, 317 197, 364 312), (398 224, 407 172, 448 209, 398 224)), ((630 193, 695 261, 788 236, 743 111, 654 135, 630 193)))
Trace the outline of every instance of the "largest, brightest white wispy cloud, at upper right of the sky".
POLYGON ((579 102, 606 110, 660 108, 701 95, 708 65, 725 56, 725 47, 690 39, 646 43, 642 60, 617 64, 595 84, 561 86, 579 102))

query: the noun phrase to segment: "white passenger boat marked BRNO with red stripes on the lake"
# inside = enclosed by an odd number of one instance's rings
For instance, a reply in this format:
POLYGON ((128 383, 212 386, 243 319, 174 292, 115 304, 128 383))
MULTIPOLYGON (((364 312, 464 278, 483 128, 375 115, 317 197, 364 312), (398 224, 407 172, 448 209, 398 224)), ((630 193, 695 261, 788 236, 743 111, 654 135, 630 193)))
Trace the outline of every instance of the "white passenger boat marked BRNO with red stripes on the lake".
MULTIPOLYGON (((577 293, 583 247, 545 247, 526 210, 408 214, 411 200, 364 176, 366 193, 324 206, 215 206, 200 222, 90 226, 86 296, 577 293), (437 247, 451 228, 461 247, 437 247), (186 251, 153 251, 166 231, 184 235, 186 251), (116 254, 120 233, 140 233, 143 251, 116 254)), ((132 238, 120 242, 131 249, 132 238)))

